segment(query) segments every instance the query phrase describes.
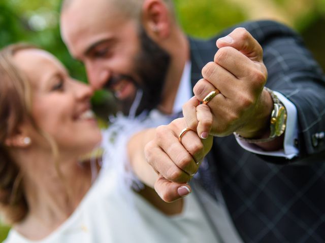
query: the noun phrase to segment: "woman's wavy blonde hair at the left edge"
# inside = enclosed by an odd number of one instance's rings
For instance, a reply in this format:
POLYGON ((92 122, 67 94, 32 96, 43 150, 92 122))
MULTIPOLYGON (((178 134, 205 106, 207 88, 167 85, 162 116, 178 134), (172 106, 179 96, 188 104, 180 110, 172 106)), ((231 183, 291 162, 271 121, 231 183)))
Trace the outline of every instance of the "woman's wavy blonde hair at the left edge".
POLYGON ((22 174, 6 146, 7 138, 15 135, 24 121, 38 131, 50 144, 55 169, 63 180, 58 166, 58 148, 55 141, 36 125, 31 116, 31 87, 23 72, 14 64, 14 55, 27 49, 40 49, 30 44, 14 44, 0 51, 0 209, 8 223, 24 219, 28 212, 22 174))

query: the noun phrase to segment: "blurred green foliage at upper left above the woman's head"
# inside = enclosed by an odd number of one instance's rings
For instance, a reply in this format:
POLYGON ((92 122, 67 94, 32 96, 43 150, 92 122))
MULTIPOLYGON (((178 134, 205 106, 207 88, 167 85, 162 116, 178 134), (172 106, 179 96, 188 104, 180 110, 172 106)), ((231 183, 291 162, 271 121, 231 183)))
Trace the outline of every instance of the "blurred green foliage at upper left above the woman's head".
POLYGON ((83 65, 74 61, 61 41, 59 1, 2 1, 0 3, 0 47, 16 42, 36 44, 53 53, 80 80, 83 65))

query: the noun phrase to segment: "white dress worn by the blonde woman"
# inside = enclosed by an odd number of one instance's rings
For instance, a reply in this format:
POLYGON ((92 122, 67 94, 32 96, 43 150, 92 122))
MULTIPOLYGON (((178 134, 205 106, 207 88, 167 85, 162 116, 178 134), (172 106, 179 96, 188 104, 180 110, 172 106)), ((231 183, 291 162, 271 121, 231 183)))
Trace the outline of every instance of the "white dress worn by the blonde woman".
MULTIPOLYGON (((132 130, 136 131, 134 127, 132 130)), ((119 134, 122 134, 121 131, 119 134)), ((124 136, 125 141, 127 137, 124 136)), ((108 138, 104 136, 105 139, 108 138)), ((123 147, 125 149, 125 144, 123 147)), ((184 198, 182 213, 166 216, 129 187, 121 185, 123 180, 118 168, 125 170, 122 160, 126 151, 113 148, 117 155, 107 157, 119 157, 119 161, 114 160, 114 166, 103 166, 90 190, 66 222, 39 241, 28 240, 12 229, 5 242, 218 242, 194 195, 184 198), (117 163, 122 166, 116 166, 117 163)))

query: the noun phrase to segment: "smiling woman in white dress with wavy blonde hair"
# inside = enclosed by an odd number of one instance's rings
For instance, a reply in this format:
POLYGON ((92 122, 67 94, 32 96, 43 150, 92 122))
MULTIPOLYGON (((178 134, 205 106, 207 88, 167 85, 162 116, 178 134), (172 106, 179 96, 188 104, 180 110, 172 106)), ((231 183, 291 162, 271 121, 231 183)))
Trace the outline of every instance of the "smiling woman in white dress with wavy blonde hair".
MULTIPOLYGON (((13 225, 5 242, 217 242, 192 195, 166 204, 147 187, 122 193, 114 168, 80 163, 102 139, 91 95, 43 50, 0 52, 0 205, 13 225)), ((134 139, 146 139, 133 137, 128 154, 150 184, 156 175, 134 139)))

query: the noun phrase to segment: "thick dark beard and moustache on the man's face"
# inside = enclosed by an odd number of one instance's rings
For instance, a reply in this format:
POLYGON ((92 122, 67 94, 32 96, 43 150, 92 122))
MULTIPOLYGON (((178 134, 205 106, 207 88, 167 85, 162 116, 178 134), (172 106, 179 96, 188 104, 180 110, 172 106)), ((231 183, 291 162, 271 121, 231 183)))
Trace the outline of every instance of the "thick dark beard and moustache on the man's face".
MULTIPOLYGON (((165 78, 171 60, 169 53, 152 41, 142 27, 140 27, 139 39, 141 44, 140 52, 134 59, 134 71, 137 77, 126 74, 113 75, 108 80, 106 87, 110 88, 120 79, 125 79, 132 82, 138 90, 141 89, 143 94, 136 115, 145 110, 154 109, 161 102, 165 78)), ((125 115, 129 113, 134 99, 135 97, 128 97, 125 100, 117 101, 119 109, 125 115)))

